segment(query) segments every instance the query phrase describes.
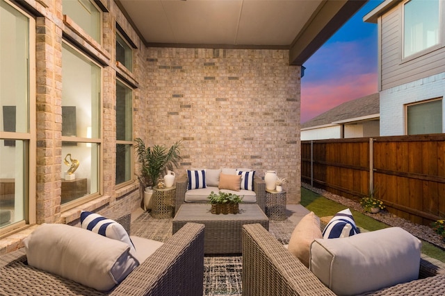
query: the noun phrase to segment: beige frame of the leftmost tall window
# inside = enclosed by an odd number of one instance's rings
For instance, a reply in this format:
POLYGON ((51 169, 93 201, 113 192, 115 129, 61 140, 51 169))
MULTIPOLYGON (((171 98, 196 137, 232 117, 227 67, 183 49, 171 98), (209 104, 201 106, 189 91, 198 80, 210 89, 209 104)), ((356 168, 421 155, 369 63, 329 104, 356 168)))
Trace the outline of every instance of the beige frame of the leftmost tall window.
POLYGON ((37 128, 35 127, 36 122, 36 96, 37 96, 37 73, 36 73, 36 21, 33 15, 26 12, 26 10, 17 6, 15 3, 9 0, 0 0, 9 6, 12 6, 19 13, 24 15, 29 20, 29 40, 28 40, 28 132, 3 132, 0 130, 1 139, 17 139, 24 141, 25 150, 27 150, 26 155, 24 155, 24 163, 27 164, 24 167, 24 184, 26 188, 24 189, 24 220, 17 221, 11 225, 2 227, 0 229, 0 237, 9 234, 10 232, 16 232, 20 229, 29 227, 36 223, 36 180, 35 176, 37 174, 37 128), (27 143, 27 144, 26 144, 27 143))

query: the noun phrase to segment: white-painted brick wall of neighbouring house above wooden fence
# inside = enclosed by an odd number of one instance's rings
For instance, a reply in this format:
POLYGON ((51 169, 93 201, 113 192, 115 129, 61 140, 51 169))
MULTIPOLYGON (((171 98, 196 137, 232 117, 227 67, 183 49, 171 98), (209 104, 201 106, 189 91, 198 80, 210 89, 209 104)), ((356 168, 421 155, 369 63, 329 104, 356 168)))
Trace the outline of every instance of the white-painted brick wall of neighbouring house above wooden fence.
MULTIPOLYGON (((380 92, 380 136, 405 134, 405 104, 441 98, 445 96, 444 89, 445 73, 439 73, 380 92)), ((442 114, 445 115, 443 103, 442 114)), ((444 120, 442 132, 445 132, 444 120)))

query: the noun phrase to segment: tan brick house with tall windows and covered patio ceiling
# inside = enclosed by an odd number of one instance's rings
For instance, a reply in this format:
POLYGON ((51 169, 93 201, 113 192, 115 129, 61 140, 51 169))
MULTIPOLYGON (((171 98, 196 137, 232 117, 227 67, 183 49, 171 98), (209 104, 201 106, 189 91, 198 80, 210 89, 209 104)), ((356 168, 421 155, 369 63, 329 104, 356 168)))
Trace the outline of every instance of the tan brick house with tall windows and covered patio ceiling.
POLYGON ((181 141, 178 177, 273 169, 298 203, 301 65, 365 3, 0 0, 0 254, 140 208, 135 138, 181 141))

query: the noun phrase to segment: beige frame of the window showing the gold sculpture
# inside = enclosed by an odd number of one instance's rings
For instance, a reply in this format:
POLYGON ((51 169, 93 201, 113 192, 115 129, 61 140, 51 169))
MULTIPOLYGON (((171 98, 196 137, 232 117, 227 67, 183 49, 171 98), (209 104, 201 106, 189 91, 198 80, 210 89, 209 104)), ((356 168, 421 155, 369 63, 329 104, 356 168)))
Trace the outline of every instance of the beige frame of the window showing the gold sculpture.
MULTIPOLYGON (((70 46, 71 49, 73 49, 74 51, 76 51, 76 53, 79 53, 79 55, 81 55, 83 58, 85 58, 86 60, 88 60, 89 62, 92 62, 93 64, 95 64, 97 67, 99 67, 100 69, 100 87, 99 87, 99 128, 98 131, 99 132, 99 137, 97 138, 88 138, 88 137, 67 137, 67 136, 61 136, 61 142, 63 141, 67 141, 67 142, 76 142, 76 143, 92 143, 92 144, 97 144, 97 153, 99 153, 99 157, 97 159, 97 192, 95 193, 89 193, 85 196, 82 196, 80 198, 76 198, 75 200, 72 200, 70 202, 64 203, 62 204, 60 201, 60 211, 67 211, 70 209, 73 209, 74 207, 78 207, 81 204, 84 204, 86 202, 90 202, 91 200, 95 200, 96 198, 98 198, 99 196, 103 195, 104 193, 104 182, 103 182, 103 172, 104 172, 104 132, 103 132, 103 128, 104 128, 104 116, 102 116, 103 114, 103 110, 104 110, 104 67, 102 67, 101 64, 99 64, 96 60, 90 58, 88 56, 88 54, 84 53, 83 51, 81 51, 81 49, 78 49, 76 46, 74 46, 74 44, 71 44, 70 42, 68 42, 67 40, 63 40, 62 44, 65 44, 67 46, 70 46)), ((63 64, 62 64, 62 67, 63 64)), ((63 106, 63 105, 62 105, 63 106)), ((62 148, 63 146, 61 146, 62 148)), ((62 158, 65 156, 61 156, 62 158)), ((63 163, 60 162, 60 166, 63 166, 63 163)), ((62 172, 63 170, 61 170, 62 172)), ((91 182, 91 180, 90 180, 91 182)))

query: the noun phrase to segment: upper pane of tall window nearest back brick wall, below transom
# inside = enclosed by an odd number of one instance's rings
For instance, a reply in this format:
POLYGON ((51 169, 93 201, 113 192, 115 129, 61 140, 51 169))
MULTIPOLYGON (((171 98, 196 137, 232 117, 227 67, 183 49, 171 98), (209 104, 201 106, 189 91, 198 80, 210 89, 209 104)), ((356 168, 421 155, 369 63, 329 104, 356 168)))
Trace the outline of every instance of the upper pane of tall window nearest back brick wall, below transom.
POLYGON ((122 82, 116 83, 116 139, 133 140, 133 91, 122 82))

